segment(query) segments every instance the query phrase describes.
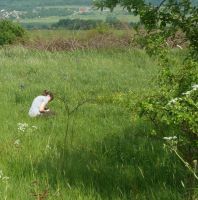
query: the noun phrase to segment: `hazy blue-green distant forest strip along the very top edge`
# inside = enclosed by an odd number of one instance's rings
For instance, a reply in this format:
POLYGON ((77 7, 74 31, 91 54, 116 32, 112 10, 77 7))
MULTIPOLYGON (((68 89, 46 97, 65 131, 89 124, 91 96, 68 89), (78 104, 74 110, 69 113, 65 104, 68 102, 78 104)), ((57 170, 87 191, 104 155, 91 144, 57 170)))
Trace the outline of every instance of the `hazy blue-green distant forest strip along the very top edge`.
MULTIPOLYGON (((93 0, 0 0, 0 10, 27 10, 37 6, 61 6, 61 5, 91 5, 93 0)), ((158 5, 161 0, 146 0, 158 5)), ((192 0, 198 4, 198 0, 192 0)))

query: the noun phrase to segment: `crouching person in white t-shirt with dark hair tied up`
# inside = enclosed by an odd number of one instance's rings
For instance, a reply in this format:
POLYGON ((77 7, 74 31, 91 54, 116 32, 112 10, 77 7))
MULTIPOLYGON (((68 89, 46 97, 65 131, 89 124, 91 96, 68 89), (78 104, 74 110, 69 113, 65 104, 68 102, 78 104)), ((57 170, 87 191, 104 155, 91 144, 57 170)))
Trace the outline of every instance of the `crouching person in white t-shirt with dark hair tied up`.
POLYGON ((47 90, 43 94, 34 98, 29 110, 30 117, 49 116, 54 114, 47 108, 47 104, 54 99, 54 95, 47 90))

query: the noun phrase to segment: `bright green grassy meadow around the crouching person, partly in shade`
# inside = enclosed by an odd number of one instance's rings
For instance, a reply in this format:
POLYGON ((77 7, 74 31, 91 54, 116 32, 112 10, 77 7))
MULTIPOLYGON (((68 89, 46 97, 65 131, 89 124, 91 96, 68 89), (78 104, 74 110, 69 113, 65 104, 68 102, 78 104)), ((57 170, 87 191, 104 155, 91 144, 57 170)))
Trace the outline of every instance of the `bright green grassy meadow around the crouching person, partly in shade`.
POLYGON ((184 167, 131 108, 88 101, 66 112, 84 99, 149 94, 159 67, 143 50, 12 46, 0 57, 1 200, 185 199, 184 167), (44 89, 54 92, 56 115, 29 118, 44 89))

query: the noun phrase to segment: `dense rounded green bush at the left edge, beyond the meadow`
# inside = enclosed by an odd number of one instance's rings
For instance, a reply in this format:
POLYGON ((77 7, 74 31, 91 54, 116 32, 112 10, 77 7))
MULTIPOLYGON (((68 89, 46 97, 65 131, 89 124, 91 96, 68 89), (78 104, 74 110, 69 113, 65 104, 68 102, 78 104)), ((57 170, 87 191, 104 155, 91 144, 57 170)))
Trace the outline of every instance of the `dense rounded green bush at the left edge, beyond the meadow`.
POLYGON ((8 20, 0 21, 0 45, 13 44, 24 36, 25 30, 20 25, 8 20))

